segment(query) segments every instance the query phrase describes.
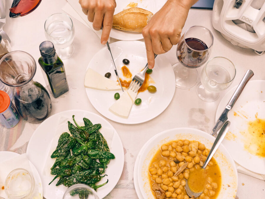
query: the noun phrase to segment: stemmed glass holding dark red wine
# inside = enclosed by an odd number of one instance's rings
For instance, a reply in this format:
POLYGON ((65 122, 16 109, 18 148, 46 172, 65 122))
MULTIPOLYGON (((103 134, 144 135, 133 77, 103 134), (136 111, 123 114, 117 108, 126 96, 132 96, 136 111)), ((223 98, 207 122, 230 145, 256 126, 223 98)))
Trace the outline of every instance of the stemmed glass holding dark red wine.
POLYGON ((179 63, 174 64, 176 87, 188 89, 198 80, 196 68, 208 60, 213 46, 213 34, 203 26, 192 26, 180 38, 177 46, 179 63))

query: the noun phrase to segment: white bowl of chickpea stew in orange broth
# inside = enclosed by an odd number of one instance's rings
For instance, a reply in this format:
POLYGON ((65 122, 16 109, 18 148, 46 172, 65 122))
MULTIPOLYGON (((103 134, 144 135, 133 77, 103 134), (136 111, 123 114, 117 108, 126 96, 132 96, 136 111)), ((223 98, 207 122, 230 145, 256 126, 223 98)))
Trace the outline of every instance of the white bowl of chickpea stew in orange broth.
POLYGON ((163 131, 146 142, 137 168, 143 198, 188 199, 185 190, 188 179, 193 191, 203 191, 197 199, 235 198, 237 170, 222 144, 205 172, 199 172, 214 140, 198 129, 177 128, 163 131))

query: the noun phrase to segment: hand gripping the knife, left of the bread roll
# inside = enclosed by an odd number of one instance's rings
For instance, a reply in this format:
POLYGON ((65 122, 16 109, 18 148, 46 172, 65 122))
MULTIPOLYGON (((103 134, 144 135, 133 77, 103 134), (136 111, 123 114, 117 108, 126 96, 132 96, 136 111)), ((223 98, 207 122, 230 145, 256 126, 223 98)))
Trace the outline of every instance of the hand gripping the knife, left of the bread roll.
POLYGON ((101 44, 106 44, 112 28, 115 0, 79 0, 87 19, 93 22, 93 28, 100 30, 103 22, 101 44), (104 20, 103 20, 104 19, 104 20))

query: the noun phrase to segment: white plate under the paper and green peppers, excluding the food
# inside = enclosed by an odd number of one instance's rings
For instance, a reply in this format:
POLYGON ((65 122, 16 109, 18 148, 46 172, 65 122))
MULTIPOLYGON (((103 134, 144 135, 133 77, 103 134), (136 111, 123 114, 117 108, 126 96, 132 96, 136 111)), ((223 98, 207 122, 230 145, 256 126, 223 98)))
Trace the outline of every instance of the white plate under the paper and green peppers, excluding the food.
MULTIPOLYGON (((104 175, 106 174, 107 176, 104 177, 100 182, 98 182, 98 184, 101 184, 107 179, 109 180, 106 185, 97 189, 98 197, 100 199, 104 198, 108 193, 110 193, 110 191, 115 187, 120 179, 124 165, 124 152, 122 142, 117 131, 107 120, 105 120, 101 116, 83 110, 63 111, 50 116, 49 118, 44 120, 42 124, 40 124, 39 127, 34 131, 27 147, 27 157, 35 165, 39 174, 41 175, 44 197, 47 199, 61 199, 67 187, 63 185, 59 185, 57 187, 51 186, 53 184, 49 185, 51 177, 43 175, 43 167, 49 154, 50 143, 52 143, 53 136, 56 132, 58 119, 60 117, 72 118, 72 115, 75 115, 76 121, 82 121, 83 117, 86 117, 90 119, 93 124, 101 124, 102 127, 113 129, 114 131, 112 144, 109 147, 110 152, 115 155, 115 159, 111 160, 107 165, 107 169, 104 173, 104 175)), ((55 181, 57 182, 57 180, 55 181)))

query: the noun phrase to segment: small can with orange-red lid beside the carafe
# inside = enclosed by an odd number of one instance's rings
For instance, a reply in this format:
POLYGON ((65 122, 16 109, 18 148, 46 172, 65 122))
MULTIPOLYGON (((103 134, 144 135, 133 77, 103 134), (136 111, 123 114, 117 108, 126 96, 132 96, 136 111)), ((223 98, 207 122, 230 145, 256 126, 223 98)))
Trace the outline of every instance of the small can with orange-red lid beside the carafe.
POLYGON ((0 91, 0 124, 10 129, 17 125, 19 119, 19 113, 12 104, 9 95, 4 91, 0 91))

